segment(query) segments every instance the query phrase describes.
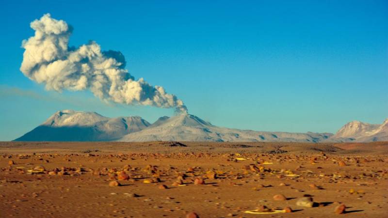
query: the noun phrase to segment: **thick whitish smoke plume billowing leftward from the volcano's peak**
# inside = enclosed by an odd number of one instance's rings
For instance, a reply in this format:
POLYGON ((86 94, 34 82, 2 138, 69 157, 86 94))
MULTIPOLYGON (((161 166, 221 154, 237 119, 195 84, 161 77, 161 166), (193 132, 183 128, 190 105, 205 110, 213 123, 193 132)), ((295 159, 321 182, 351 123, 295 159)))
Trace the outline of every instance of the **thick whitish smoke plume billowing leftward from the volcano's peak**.
POLYGON ((187 112, 183 102, 163 87, 151 86, 143 78, 135 80, 124 68, 126 62, 121 52, 101 51, 96 42, 68 47, 72 27, 65 21, 46 14, 34 20, 31 28, 35 35, 22 43, 26 50, 20 70, 26 77, 44 83, 46 89, 88 89, 107 101, 187 112))

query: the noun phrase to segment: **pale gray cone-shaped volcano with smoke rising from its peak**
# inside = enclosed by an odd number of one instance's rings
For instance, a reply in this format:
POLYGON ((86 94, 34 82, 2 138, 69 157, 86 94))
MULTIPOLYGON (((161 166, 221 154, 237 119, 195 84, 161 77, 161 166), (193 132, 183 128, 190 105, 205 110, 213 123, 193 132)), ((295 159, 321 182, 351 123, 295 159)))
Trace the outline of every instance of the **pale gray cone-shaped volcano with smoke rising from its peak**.
POLYGON ((191 114, 158 120, 139 132, 130 133, 119 141, 298 141, 318 142, 331 133, 261 132, 218 127, 191 114))

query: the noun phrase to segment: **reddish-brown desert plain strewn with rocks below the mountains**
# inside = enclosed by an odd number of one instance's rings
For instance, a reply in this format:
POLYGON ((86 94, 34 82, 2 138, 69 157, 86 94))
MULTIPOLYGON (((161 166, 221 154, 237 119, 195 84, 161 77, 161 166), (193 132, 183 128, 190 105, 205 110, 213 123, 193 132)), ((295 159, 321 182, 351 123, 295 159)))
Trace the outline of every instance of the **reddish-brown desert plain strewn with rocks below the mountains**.
POLYGON ((0 142, 0 217, 383 218, 388 142, 0 142))

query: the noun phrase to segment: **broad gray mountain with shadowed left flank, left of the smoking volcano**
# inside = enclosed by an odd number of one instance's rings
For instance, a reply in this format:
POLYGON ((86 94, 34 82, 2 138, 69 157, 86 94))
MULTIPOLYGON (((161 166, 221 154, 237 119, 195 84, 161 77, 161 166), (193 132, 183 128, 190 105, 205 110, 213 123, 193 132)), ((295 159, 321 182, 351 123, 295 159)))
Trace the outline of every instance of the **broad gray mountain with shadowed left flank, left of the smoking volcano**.
POLYGON ((138 116, 108 118, 95 112, 61 110, 16 141, 111 141, 148 125, 138 116))

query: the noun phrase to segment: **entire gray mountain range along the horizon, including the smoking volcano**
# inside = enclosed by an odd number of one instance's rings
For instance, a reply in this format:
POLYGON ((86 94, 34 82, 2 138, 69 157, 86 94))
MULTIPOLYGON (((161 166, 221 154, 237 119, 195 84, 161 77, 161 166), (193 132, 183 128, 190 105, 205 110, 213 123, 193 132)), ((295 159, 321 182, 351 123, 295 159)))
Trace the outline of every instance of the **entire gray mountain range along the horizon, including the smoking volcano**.
POLYGON ((336 134, 264 132, 210 124, 191 114, 163 116, 150 124, 139 116, 104 117, 96 112, 61 110, 16 141, 263 141, 369 142, 388 140, 388 119, 382 124, 353 121, 336 134))

